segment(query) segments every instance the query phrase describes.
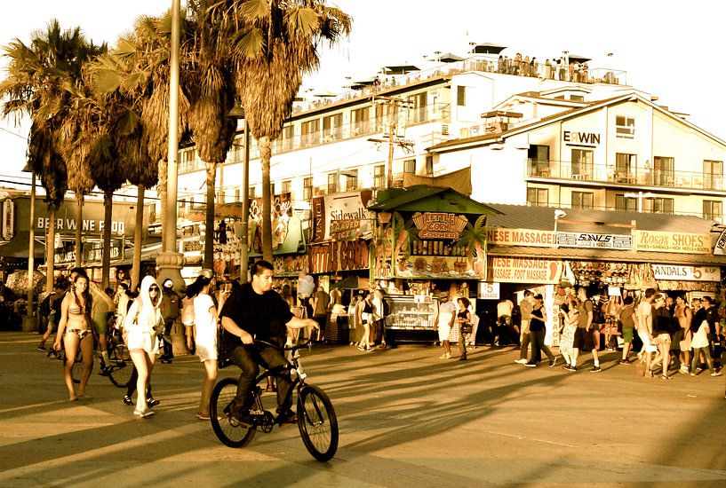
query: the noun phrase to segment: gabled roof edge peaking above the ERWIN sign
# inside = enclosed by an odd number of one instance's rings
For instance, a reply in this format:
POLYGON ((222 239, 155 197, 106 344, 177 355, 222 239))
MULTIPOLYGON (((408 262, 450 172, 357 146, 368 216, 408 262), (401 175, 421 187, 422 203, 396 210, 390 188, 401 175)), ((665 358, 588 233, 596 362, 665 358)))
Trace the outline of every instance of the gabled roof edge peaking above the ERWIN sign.
POLYGON ((588 112, 593 112, 594 110, 599 110, 603 106, 614 106, 614 105, 618 105, 618 104, 626 102, 626 101, 642 102, 642 103, 652 107, 657 112, 660 112, 661 114, 665 114, 666 116, 670 117, 674 121, 685 124, 693 130, 697 130, 700 134, 706 136, 706 138, 710 138, 710 139, 714 140, 717 144, 726 146, 726 141, 724 141, 723 139, 718 138, 718 137, 714 136, 714 134, 711 134, 710 132, 699 128, 697 125, 682 119, 682 117, 679 117, 678 115, 674 114, 673 112, 668 111, 664 107, 654 104, 652 101, 650 101, 647 98, 643 98, 641 95, 637 94, 636 92, 629 91, 627 93, 624 93, 623 95, 619 95, 618 97, 604 98, 602 100, 597 100, 586 106, 579 106, 576 108, 572 108, 570 110, 565 110, 564 112, 560 112, 559 114, 548 115, 546 117, 542 117, 538 121, 526 123, 526 124, 514 127, 510 130, 505 130, 503 132, 499 132, 499 133, 495 133, 495 134, 486 134, 483 136, 475 136, 475 137, 470 137, 470 138, 459 138, 459 139, 451 139, 448 141, 444 141, 444 142, 436 144, 434 146, 427 147, 427 151, 456 150, 456 149, 466 149, 471 146, 483 146, 490 142, 492 142, 492 143, 497 142, 497 141, 503 140, 505 138, 508 138, 510 136, 515 136, 517 134, 521 134, 528 130, 536 129, 541 126, 545 126, 552 122, 564 121, 564 120, 567 120, 567 119, 570 119, 570 118, 573 118, 573 117, 576 117, 576 116, 579 116, 582 114, 586 114, 588 112), (480 143, 480 144, 477 144, 477 143, 480 143))

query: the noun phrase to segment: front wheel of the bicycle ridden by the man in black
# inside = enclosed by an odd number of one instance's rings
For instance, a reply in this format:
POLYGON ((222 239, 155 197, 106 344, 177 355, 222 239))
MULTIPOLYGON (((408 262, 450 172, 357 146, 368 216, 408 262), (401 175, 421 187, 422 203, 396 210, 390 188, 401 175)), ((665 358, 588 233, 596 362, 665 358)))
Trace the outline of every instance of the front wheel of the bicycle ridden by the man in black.
POLYGON ((298 429, 316 460, 331 460, 338 451, 338 417, 331 399, 316 386, 307 385, 299 392, 298 429))

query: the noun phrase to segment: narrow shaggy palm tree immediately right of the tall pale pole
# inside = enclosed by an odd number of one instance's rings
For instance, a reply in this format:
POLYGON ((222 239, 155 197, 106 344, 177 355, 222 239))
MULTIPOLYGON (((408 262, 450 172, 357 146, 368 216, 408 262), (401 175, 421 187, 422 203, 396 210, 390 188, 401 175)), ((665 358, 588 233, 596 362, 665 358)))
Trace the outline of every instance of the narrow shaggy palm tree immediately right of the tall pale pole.
MULTIPOLYGON (((216 1, 216 0, 215 0, 216 1)), ((207 232, 204 236, 203 267, 212 269, 214 259, 214 185, 217 164, 227 159, 227 152, 235 141, 236 121, 227 116, 235 106, 235 85, 232 79, 231 59, 226 44, 219 39, 217 10, 209 9, 212 2, 201 0, 190 4, 195 21, 194 43, 189 43, 189 58, 194 59, 193 75, 187 77, 191 107, 189 129, 195 147, 206 167, 207 232)))

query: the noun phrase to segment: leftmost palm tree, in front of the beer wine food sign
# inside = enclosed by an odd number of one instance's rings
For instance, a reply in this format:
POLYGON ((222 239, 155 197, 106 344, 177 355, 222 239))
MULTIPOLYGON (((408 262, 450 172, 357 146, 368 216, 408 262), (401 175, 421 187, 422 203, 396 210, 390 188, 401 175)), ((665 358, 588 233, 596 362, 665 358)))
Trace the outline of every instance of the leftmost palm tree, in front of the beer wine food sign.
MULTIPOLYGON (((62 30, 52 20, 44 31, 31 35, 30 45, 15 39, 4 48, 10 58, 7 77, 0 83, 0 97, 5 117, 30 116, 28 163, 40 176, 48 204, 50 226, 46 240, 46 290, 52 290, 55 237, 55 212, 68 190, 68 168, 62 157, 62 122, 68 114, 71 98, 68 81, 81 76, 84 60, 98 48, 85 41, 80 28, 62 30)), ((77 222, 80 226, 81 222, 77 222)))

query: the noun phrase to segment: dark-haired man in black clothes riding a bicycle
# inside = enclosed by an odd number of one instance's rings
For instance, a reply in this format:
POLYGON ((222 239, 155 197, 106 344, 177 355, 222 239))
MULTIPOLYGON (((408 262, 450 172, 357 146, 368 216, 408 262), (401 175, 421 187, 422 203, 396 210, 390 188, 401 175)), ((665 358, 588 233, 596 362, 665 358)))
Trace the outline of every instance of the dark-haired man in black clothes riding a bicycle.
POLYGON ((297 421, 291 410, 290 371, 283 352, 264 344, 252 346, 255 339, 284 343, 286 327, 293 329, 319 326, 314 319, 299 319, 290 311, 282 296, 272 291, 273 266, 258 261, 251 267, 251 283, 236 287, 219 313, 224 333, 222 340, 232 363, 242 369, 235 400, 229 408, 230 423, 245 427, 254 425, 250 414, 253 398, 250 395, 259 365, 267 369, 280 368, 277 376, 277 414, 280 423, 297 421))

